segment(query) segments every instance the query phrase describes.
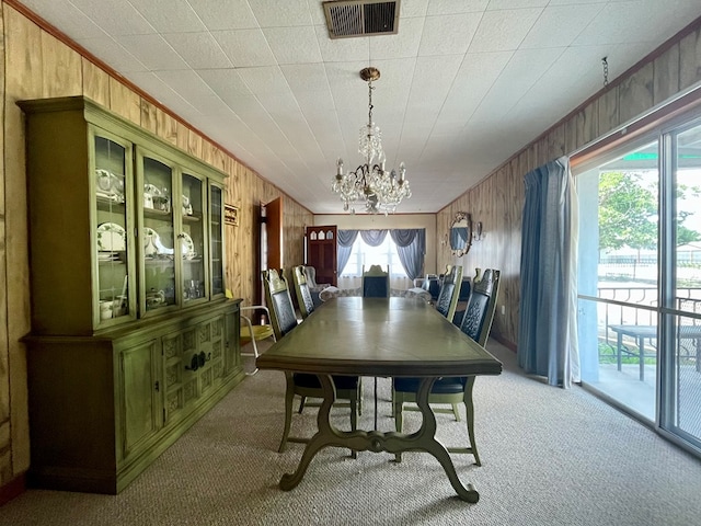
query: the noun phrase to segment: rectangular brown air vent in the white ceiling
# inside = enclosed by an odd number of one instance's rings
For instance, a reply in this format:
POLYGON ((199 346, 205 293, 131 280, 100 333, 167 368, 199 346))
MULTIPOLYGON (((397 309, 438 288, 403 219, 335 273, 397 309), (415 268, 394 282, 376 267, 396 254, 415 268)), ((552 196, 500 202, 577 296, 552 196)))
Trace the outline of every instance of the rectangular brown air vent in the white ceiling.
POLYGON ((392 35, 399 25, 399 3, 378 0, 323 2, 331 38, 392 35))

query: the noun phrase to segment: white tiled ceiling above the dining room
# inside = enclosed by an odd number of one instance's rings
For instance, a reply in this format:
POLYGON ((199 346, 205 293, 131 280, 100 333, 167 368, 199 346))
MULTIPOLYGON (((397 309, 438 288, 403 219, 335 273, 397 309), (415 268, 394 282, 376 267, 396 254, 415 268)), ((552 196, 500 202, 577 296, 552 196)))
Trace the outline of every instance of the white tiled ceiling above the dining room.
POLYGON ((397 35, 331 39, 321 0, 21 0, 315 214, 374 121, 435 213, 701 15, 701 0, 401 0, 397 35))

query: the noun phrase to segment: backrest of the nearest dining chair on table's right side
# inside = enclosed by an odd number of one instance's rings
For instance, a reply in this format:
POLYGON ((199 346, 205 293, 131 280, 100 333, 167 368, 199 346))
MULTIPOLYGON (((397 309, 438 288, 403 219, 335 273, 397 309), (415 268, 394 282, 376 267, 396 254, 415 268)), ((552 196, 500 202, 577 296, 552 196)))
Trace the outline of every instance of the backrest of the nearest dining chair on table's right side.
POLYGON ((480 277, 480 268, 476 268, 468 307, 460 322, 460 330, 482 346, 486 344, 492 330, 499 291, 499 271, 487 268, 480 277))

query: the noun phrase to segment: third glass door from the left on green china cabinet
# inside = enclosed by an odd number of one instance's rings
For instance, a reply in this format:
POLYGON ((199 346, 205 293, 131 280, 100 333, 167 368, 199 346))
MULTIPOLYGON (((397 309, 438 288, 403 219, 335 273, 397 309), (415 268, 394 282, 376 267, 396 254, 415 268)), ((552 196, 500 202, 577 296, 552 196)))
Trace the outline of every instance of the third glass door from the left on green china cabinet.
POLYGON ((183 173, 182 230, 180 238, 183 262, 183 302, 207 297, 205 285, 205 183, 203 179, 183 173))

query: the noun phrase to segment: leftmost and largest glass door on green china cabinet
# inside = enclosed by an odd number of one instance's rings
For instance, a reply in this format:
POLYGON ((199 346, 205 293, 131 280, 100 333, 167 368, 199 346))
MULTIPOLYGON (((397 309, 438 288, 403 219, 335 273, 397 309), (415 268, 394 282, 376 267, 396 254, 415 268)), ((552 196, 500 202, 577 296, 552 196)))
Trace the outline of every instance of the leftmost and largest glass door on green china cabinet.
POLYGON ((97 135, 92 130, 94 148, 94 199, 97 244, 99 324, 134 318, 129 307, 129 252, 127 236, 127 182, 131 159, 130 145, 97 135))

